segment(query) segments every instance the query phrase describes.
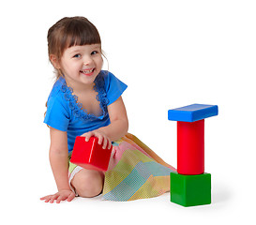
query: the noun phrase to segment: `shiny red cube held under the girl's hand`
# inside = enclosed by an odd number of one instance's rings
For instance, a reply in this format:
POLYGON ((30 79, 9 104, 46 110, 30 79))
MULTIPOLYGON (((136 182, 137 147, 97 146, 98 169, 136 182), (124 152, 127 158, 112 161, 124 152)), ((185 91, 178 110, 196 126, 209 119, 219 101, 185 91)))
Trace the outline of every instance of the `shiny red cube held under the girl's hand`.
POLYGON ((98 138, 96 137, 91 137, 88 142, 85 142, 85 137, 78 136, 70 162, 87 170, 107 171, 112 148, 103 149, 102 145, 98 144, 98 138))

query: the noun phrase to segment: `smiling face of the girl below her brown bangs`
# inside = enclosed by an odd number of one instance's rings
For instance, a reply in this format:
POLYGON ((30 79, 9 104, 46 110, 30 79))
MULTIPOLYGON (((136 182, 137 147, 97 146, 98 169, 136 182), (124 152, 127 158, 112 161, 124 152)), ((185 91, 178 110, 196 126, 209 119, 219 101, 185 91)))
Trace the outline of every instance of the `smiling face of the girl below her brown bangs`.
POLYGON ((68 84, 92 84, 102 65, 100 44, 72 46, 65 50, 60 60, 68 84))

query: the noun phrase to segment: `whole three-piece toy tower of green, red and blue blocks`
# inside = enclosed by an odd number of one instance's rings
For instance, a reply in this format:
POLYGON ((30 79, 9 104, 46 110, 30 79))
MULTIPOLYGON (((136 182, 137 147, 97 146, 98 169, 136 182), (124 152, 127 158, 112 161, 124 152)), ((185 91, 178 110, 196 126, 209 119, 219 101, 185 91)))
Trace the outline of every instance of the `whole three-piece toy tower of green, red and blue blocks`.
POLYGON ((171 202, 183 206, 211 203, 211 174, 204 173, 204 119, 217 105, 193 104, 168 111, 177 121, 177 173, 171 173, 171 202))

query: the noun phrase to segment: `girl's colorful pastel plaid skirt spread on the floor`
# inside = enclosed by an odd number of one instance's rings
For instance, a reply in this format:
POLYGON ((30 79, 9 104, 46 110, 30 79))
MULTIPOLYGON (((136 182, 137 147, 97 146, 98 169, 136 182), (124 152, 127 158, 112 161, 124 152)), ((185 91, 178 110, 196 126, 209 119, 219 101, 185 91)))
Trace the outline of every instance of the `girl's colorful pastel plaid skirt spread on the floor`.
MULTIPOLYGON (((113 143, 113 151, 105 173, 103 200, 132 201, 170 191, 170 173, 176 170, 134 135, 128 133, 113 143)), ((69 173, 73 171, 79 170, 71 164, 69 173)))

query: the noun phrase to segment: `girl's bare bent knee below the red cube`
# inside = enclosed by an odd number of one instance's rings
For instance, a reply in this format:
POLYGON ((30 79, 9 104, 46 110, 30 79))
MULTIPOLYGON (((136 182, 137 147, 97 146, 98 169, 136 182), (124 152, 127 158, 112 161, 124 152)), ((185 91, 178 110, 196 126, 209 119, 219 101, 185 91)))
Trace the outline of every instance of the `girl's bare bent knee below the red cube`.
POLYGON ((98 196, 103 188, 104 173, 98 171, 81 170, 71 180, 72 187, 83 198, 98 196))

